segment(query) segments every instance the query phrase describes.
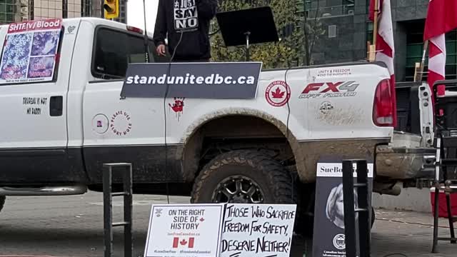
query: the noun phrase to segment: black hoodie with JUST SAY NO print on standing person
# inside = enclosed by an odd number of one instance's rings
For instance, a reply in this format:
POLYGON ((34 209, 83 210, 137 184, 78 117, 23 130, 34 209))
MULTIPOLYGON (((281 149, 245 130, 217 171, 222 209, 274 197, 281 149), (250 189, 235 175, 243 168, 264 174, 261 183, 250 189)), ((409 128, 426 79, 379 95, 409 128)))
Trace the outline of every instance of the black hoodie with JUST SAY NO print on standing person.
POLYGON ((169 52, 174 61, 211 58, 209 22, 217 11, 217 0, 159 0, 154 44, 164 44, 168 33, 169 52))

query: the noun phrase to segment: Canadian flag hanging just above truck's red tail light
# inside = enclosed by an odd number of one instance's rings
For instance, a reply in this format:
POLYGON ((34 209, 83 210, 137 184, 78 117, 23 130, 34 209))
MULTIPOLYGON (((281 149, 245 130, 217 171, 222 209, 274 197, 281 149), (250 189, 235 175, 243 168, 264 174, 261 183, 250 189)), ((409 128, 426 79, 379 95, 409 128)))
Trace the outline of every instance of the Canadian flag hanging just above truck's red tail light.
MULTIPOLYGON (((382 61, 388 68, 391 75, 391 97, 396 103, 395 93, 395 68, 393 66, 393 56, 395 46, 393 45, 393 26, 391 0, 370 0, 369 19, 374 21, 376 13, 375 3, 378 1, 378 34, 376 34, 376 61, 382 61)), ((397 112, 393 110, 393 126, 396 126, 397 112)))

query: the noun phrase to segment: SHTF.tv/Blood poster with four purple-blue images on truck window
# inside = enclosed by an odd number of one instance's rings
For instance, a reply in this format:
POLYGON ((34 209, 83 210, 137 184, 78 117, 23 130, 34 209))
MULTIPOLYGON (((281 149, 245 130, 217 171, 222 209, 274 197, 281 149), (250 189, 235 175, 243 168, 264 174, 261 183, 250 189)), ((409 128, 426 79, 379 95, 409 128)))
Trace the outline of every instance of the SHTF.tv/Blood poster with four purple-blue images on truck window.
POLYGON ((0 84, 52 81, 61 19, 9 24, 0 63, 0 84))

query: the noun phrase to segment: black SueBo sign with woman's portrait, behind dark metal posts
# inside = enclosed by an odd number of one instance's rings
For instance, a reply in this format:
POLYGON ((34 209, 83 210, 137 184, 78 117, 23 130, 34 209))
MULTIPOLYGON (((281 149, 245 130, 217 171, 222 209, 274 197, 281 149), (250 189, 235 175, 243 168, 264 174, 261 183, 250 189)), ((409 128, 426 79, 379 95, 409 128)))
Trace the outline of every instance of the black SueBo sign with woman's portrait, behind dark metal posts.
MULTIPOLYGON (((313 257, 346 256, 342 159, 322 159, 317 164, 314 207, 313 257)), ((357 173, 354 164, 354 181, 357 173)), ((368 163, 368 192, 373 188, 373 163, 368 163)), ((354 207, 358 201, 354 191, 354 207)), ((371 195, 368 196, 371 208, 371 195)), ((371 217, 371 212, 370 212, 371 217)), ((358 215, 356 215, 356 220, 358 215)))

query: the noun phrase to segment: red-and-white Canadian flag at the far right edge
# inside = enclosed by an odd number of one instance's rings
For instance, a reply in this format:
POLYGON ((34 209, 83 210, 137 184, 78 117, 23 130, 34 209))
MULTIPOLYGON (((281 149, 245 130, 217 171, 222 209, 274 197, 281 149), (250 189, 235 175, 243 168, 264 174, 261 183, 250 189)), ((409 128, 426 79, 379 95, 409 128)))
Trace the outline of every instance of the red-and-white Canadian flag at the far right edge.
MULTIPOLYGON (((446 78, 446 37, 448 31, 457 28, 457 1, 430 0, 423 40, 430 42, 428 49, 428 86, 446 78)), ((438 94, 444 89, 438 88, 438 94)))

